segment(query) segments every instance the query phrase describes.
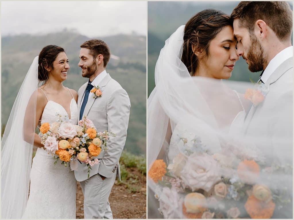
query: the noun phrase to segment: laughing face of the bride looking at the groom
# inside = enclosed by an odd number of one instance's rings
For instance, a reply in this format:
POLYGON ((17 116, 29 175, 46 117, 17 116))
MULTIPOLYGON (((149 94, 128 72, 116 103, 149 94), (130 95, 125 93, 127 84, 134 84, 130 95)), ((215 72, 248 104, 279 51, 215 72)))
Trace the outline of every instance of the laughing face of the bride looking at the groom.
POLYGON ((49 75, 54 79, 62 82, 67 79, 67 71, 69 70, 69 59, 66 53, 60 52, 53 62, 53 68, 50 69, 49 75))

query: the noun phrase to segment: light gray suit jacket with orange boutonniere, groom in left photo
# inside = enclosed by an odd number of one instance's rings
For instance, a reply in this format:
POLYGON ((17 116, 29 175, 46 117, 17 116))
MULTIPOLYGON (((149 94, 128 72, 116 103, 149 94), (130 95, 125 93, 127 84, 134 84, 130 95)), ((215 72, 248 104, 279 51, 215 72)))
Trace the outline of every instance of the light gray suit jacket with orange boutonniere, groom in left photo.
MULTIPOLYGON (((83 94, 88 82, 78 90, 78 109, 80 113, 83 94)), ((104 177, 112 177, 117 173, 120 180, 119 158, 126 142, 128 121, 130 116, 131 103, 121 85, 112 79, 109 74, 99 83, 103 90, 101 97, 89 98, 83 115, 92 120, 97 132, 116 133, 116 137, 110 137, 107 142, 108 149, 95 157, 99 159, 99 164, 91 167, 90 177, 99 173, 104 177), (116 172, 117 170, 117 172, 116 172)), ((92 93, 89 96, 93 96, 92 93)), ((80 115, 78 116, 80 118, 80 115)), ((88 178, 87 165, 78 164, 78 170, 74 172, 76 180, 81 182, 88 178)))

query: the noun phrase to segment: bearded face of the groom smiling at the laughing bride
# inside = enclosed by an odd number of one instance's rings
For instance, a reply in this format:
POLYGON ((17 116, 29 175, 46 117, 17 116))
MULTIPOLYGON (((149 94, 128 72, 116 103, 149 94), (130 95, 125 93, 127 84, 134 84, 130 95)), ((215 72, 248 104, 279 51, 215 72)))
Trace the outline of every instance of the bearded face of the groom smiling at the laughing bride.
POLYGON ((81 48, 80 62, 78 66, 82 68, 82 76, 90 78, 97 71, 97 62, 91 55, 91 50, 88 48, 81 48))

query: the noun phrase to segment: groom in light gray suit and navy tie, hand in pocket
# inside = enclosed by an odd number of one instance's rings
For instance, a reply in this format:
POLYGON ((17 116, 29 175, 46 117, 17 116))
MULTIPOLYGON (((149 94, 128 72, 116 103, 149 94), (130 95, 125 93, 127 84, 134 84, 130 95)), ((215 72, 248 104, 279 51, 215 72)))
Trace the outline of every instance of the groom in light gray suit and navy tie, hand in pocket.
POLYGON ((90 177, 87 165, 78 164, 76 180, 80 182, 84 194, 85 219, 112 219, 108 201, 116 176, 120 179, 119 158, 126 142, 130 99, 126 91, 106 73, 110 50, 104 41, 93 39, 81 45, 80 62, 82 76, 88 81, 78 90, 79 120, 86 115, 92 120, 97 132, 113 132, 108 149, 96 158, 99 164, 92 166, 90 177), (102 95, 94 98, 90 90, 99 86, 102 95))

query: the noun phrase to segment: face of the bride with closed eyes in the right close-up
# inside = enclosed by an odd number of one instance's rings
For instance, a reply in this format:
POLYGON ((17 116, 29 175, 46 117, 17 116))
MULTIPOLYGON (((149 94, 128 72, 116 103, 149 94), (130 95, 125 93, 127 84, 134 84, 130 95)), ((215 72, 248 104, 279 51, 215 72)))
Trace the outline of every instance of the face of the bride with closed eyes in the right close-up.
POLYGON ((235 44, 233 28, 225 26, 210 41, 208 56, 201 59, 200 69, 205 70, 205 75, 203 76, 216 79, 230 78, 235 62, 239 59, 235 44))

